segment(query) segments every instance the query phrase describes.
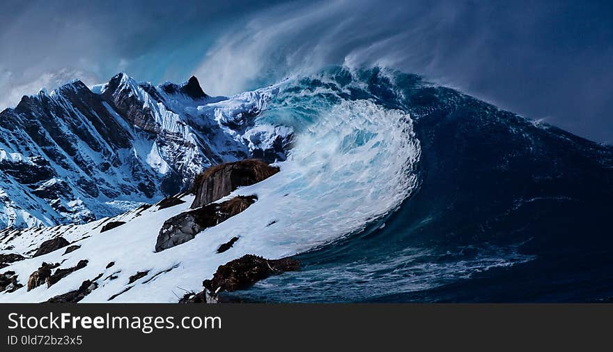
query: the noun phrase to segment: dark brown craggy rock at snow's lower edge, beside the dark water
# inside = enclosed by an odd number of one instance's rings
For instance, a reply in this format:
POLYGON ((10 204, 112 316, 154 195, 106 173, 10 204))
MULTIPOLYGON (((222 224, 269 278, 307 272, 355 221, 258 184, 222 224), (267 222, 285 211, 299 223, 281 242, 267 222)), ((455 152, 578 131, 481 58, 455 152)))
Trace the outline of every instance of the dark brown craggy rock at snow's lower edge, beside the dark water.
POLYGON ((220 291, 238 291, 247 289, 259 280, 270 275, 285 271, 294 271, 300 268, 300 262, 295 259, 264 259, 253 254, 247 254, 234 259, 217 268, 211 280, 204 280, 202 286, 212 296, 220 291))

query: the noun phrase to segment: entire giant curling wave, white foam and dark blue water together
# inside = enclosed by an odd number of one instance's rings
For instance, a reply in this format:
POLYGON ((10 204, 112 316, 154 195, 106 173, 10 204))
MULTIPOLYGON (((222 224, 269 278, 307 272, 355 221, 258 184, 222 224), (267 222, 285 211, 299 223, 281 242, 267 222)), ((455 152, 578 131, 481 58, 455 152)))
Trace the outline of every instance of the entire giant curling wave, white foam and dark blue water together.
POLYGON ((587 224, 572 221, 598 219, 587 233, 605 236, 607 203, 593 190, 610 192, 610 169, 586 169, 581 163, 591 161, 581 158, 603 158, 606 148, 382 68, 329 68, 269 89, 277 95, 258 123, 290 125, 295 146, 282 172, 254 187, 265 193, 258 211, 237 222, 274 222, 243 232, 265 238, 257 247, 270 257, 299 253, 303 268, 228 298, 491 302, 611 294, 557 284, 582 277, 573 261, 559 261, 569 246, 577 261, 593 253, 586 266, 610 263, 591 247, 597 242, 577 243, 573 234, 585 234, 587 224), (581 151, 572 153, 584 156, 568 158, 576 146, 581 151), (527 279, 531 273, 548 279, 527 279))

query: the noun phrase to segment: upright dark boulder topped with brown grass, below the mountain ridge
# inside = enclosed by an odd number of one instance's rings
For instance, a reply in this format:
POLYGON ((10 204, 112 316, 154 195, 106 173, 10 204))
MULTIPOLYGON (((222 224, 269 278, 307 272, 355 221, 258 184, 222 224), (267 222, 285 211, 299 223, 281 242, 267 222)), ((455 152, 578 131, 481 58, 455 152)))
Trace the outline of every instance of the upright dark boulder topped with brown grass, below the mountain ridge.
POLYGON ((253 185, 279 172, 278 167, 255 159, 228 162, 210 167, 194 179, 196 198, 191 208, 199 208, 226 197, 240 186, 253 185))

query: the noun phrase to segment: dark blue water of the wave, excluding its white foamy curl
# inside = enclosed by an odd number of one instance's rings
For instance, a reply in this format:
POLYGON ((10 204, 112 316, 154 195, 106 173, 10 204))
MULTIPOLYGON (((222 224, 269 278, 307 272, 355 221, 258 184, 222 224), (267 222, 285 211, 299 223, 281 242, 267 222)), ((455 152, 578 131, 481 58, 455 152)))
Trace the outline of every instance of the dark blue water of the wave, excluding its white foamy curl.
POLYGON ((299 272, 228 298, 613 300, 611 146, 414 75, 343 68, 323 75, 303 79, 296 89, 332 86, 343 98, 411 114, 421 143, 419 190, 364 231, 297 255, 299 272))

